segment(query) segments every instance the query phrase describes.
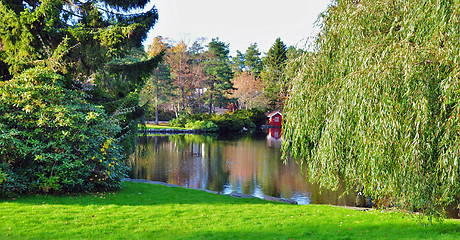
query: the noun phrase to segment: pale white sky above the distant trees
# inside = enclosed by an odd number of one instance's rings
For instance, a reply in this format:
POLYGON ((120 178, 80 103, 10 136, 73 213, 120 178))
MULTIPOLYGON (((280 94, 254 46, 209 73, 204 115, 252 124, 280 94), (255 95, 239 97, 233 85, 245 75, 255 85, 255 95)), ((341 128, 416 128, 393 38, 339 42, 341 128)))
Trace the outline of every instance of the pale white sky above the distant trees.
POLYGON ((262 53, 276 38, 287 46, 306 49, 318 29, 314 23, 331 0, 152 0, 159 20, 144 45, 153 37, 191 44, 197 38, 212 38, 230 44, 230 55, 245 52, 257 43, 262 53))

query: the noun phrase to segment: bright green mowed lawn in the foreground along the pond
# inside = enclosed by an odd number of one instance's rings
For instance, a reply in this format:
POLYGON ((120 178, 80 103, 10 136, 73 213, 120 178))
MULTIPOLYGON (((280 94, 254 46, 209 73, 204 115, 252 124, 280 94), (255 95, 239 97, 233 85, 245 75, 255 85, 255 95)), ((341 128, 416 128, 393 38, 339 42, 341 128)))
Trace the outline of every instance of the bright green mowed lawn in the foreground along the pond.
POLYGON ((0 239, 460 239, 460 223, 125 183, 118 192, 0 199, 0 239))

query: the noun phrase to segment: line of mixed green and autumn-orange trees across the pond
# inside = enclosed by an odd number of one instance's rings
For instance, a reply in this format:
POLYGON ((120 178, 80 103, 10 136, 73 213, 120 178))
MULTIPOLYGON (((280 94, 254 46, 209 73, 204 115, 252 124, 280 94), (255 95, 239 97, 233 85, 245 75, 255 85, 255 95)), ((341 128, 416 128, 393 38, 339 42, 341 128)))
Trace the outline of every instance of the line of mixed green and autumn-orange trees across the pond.
POLYGON ((237 51, 231 57, 229 44, 218 38, 206 45, 204 39, 187 45, 159 36, 148 46, 147 54, 160 52, 164 59, 141 93, 141 104, 147 104, 151 120, 158 111, 160 120, 169 120, 180 113, 211 113, 231 103, 241 109, 282 110, 288 88, 283 78, 286 63, 303 50, 288 48, 278 38, 266 56, 261 56, 254 43, 245 53, 237 51))

